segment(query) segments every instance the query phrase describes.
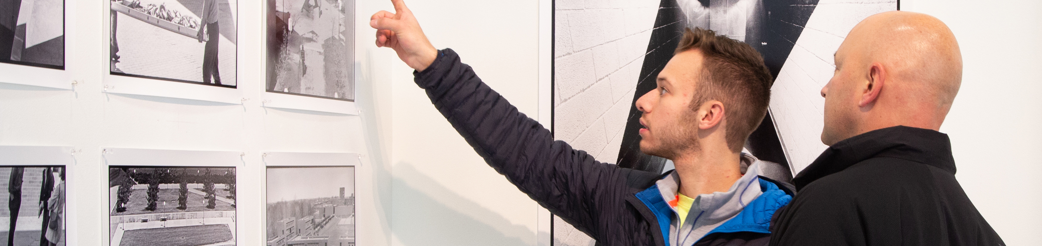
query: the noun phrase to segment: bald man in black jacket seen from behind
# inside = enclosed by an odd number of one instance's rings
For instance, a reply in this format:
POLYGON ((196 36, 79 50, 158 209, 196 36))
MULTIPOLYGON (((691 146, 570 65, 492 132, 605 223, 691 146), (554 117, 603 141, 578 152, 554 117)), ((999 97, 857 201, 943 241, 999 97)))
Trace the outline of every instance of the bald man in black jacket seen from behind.
POLYGON ((951 30, 917 13, 859 23, 821 89, 828 149, 793 178, 771 245, 1004 245, 938 132, 962 82, 951 30))

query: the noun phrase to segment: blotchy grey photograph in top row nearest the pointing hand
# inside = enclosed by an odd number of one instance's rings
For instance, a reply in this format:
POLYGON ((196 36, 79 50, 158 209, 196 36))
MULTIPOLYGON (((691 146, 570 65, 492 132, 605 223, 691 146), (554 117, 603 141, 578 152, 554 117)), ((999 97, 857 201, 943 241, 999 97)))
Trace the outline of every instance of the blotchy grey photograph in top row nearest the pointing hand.
POLYGON ((353 20, 353 0, 268 0, 267 91, 354 101, 353 20))

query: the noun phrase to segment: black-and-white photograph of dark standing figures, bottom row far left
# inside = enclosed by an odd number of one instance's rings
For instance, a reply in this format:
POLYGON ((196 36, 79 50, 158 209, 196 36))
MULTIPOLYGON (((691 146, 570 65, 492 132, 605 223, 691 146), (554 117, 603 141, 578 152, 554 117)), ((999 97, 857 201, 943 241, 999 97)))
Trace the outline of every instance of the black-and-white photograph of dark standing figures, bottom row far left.
POLYGON ((66 245, 66 167, 0 166, 0 243, 66 245))

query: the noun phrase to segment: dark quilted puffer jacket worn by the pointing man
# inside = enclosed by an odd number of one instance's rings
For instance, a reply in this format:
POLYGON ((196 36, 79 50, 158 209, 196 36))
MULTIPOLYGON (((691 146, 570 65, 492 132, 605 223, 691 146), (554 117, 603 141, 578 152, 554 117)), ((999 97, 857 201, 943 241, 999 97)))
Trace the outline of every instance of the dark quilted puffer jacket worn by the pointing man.
MULTIPOLYGON (((655 216, 662 211, 652 212, 636 196, 663 175, 600 163, 554 141, 549 130, 481 82, 450 49, 439 52, 433 64, 414 75, 435 107, 492 168, 540 205, 596 239, 598 245, 667 245, 662 220, 655 216)), ((655 204, 660 203, 666 204, 655 204)), ((769 208, 767 219, 758 221, 764 232, 777 207, 769 208)), ((669 228, 669 218, 665 221, 669 228)), ((698 242, 766 245, 768 239, 767 233, 736 230, 711 233, 698 242)))

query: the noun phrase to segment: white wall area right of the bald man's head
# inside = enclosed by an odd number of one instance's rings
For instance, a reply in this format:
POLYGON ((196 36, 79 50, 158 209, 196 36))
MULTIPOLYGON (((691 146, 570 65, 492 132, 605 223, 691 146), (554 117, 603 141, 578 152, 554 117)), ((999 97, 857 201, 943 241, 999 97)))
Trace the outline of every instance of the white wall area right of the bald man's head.
POLYGON ((963 84, 941 126, 966 194, 1008 245, 1042 236, 1042 2, 902 0, 956 33, 963 84))

